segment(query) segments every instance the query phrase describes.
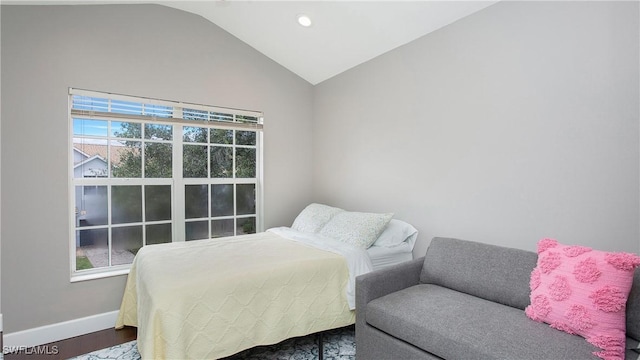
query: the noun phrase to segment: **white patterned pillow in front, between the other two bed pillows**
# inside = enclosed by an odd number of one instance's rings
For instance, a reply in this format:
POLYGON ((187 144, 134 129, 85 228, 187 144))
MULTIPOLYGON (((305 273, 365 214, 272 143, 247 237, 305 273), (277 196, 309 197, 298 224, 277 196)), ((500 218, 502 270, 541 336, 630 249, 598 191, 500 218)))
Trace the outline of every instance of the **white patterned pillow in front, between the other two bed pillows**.
POLYGON ((378 238, 393 214, 344 211, 336 214, 322 227, 320 234, 345 244, 367 249, 378 238))

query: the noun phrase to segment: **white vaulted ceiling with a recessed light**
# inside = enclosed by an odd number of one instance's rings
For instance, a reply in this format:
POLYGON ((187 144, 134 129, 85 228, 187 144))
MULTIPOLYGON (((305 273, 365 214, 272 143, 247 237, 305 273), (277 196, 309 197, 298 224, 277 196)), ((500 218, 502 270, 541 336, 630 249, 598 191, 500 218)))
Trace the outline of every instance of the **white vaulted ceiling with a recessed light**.
POLYGON ((3 4, 156 3, 198 14, 311 84, 320 83, 499 0, 2 1, 3 4), (313 24, 304 28, 300 14, 313 24))

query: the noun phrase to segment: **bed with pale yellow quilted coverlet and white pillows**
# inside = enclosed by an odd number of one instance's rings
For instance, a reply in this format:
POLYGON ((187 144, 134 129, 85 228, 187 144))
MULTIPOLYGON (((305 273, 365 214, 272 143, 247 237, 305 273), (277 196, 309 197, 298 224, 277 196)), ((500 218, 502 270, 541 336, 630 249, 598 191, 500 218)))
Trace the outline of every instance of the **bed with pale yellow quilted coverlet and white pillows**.
POLYGON ((217 359, 351 325, 355 277, 411 259, 417 230, 391 216, 311 204, 291 227, 145 246, 116 328, 144 359, 217 359))

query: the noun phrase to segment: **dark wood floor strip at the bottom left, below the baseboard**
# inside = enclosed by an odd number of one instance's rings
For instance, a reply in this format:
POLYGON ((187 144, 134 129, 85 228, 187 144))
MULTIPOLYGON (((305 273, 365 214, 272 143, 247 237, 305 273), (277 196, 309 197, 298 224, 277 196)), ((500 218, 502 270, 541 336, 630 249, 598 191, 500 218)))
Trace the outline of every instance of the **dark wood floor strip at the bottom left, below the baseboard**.
POLYGON ((107 329, 91 334, 61 340, 51 344, 26 348, 20 352, 5 354, 5 360, 57 360, 83 355, 95 350, 123 344, 137 337, 135 327, 126 326, 124 329, 107 329))

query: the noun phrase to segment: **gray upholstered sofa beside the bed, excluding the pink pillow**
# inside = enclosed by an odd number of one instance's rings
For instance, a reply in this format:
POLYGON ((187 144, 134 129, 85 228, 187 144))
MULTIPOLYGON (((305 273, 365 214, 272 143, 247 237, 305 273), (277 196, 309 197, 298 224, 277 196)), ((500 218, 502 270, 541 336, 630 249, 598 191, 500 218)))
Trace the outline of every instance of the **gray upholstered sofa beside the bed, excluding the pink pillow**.
MULTIPOLYGON (((584 338, 524 314, 534 252, 435 238, 424 258, 356 279, 356 358, 599 359, 584 338)), ((640 340, 640 269, 627 302, 640 340)), ((627 350, 626 358, 640 354, 627 350)))

